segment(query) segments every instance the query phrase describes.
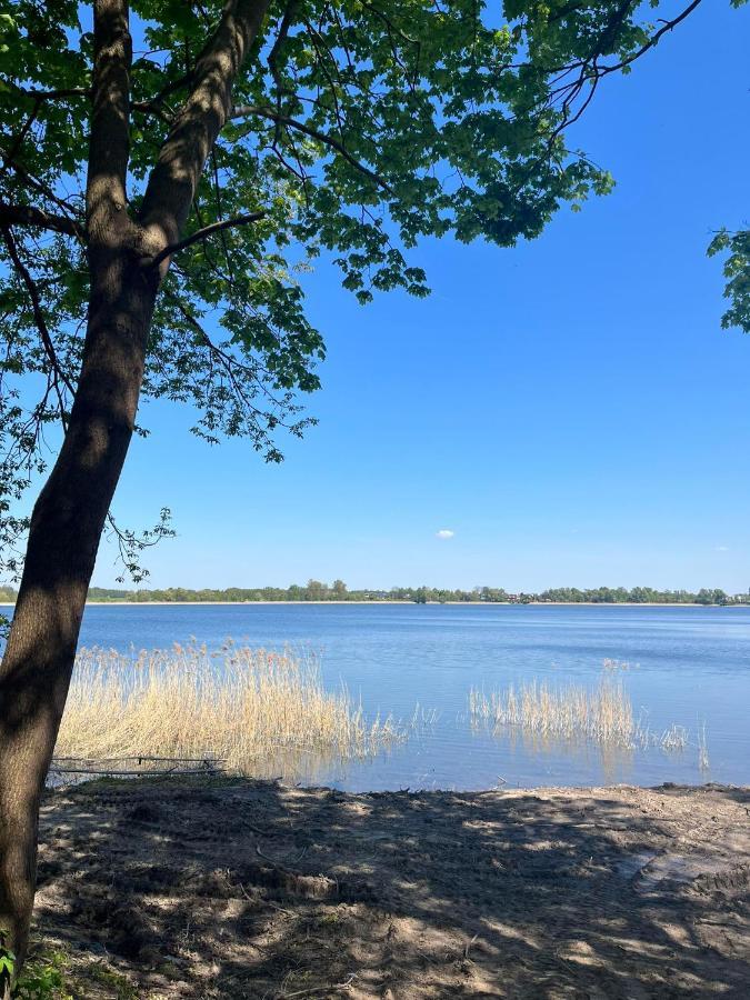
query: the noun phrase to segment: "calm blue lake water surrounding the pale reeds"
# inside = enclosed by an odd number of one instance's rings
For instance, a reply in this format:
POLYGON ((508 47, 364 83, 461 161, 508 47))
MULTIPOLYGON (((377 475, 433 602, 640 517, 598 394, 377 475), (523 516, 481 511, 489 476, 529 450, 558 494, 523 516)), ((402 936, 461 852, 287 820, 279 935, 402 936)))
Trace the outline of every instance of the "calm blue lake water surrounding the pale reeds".
POLYGON ((86 611, 86 646, 169 647, 194 637, 251 646, 312 649, 326 686, 343 681, 368 714, 439 713, 426 732, 374 760, 323 767, 312 782, 351 790, 491 788, 712 780, 750 783, 750 608, 512 607, 417 604, 241 604, 112 607, 86 611), (659 732, 690 731, 682 752, 539 747, 517 733, 472 731, 472 686, 487 691, 536 676, 596 686, 606 659, 634 714, 659 732), (706 723, 710 770, 696 746, 706 723))

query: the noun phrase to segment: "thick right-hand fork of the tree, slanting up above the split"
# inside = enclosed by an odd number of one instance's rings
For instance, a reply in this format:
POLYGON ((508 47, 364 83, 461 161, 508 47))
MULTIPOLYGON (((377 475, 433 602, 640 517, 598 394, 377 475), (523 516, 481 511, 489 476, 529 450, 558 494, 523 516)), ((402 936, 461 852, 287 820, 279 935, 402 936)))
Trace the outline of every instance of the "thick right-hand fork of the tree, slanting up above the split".
POLYGON ((231 91, 269 0, 230 0, 192 72, 194 87, 164 140, 146 189, 141 221, 150 239, 174 246, 188 220, 207 157, 229 116, 231 91))

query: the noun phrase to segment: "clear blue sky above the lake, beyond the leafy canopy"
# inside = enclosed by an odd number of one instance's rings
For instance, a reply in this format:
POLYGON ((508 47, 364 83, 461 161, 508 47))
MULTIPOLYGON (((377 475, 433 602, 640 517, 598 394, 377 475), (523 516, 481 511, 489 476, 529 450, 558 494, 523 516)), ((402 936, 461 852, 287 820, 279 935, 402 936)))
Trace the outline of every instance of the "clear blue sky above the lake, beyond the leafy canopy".
POLYGON ((748 220, 749 41, 706 0, 576 128, 614 193, 513 250, 422 244, 428 300, 361 308, 322 263, 320 422, 282 466, 149 406, 114 503, 172 509, 149 586, 750 587, 750 340, 706 258, 748 220))

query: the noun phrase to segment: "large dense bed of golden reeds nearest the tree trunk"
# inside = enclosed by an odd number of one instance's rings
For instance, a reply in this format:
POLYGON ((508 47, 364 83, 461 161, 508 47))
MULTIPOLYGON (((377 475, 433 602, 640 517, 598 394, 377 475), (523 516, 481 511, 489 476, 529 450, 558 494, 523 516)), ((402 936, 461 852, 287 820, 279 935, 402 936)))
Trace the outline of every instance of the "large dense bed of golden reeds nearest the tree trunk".
POLYGON ((391 719, 368 722, 346 690, 327 691, 310 656, 233 644, 137 656, 82 649, 56 754, 214 757, 229 770, 258 774, 280 754, 349 760, 403 737, 391 719))

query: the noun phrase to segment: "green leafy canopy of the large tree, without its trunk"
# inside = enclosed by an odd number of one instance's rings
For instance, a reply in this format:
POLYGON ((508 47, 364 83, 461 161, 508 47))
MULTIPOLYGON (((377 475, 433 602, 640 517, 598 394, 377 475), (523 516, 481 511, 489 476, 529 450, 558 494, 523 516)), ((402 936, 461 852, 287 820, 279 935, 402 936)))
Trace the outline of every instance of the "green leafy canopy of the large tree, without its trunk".
MULTIPOLYGON (((143 392, 191 404, 210 441, 244 434, 280 460, 301 433, 321 334, 301 276, 330 254, 360 302, 428 292, 420 238, 510 247, 609 173, 566 127, 601 80, 698 6, 653 0, 289 0, 271 3, 209 156, 159 297, 143 392), (671 18, 671 20, 670 20, 671 18)), ((190 91, 222 4, 132 0, 129 206, 190 91)), ((77 0, 0 0, 0 517, 46 462, 76 390, 89 277, 84 189, 91 14, 77 0)), ((9 548, 10 547, 10 548, 9 548)), ((11 553, 11 554, 8 554, 11 553)))

